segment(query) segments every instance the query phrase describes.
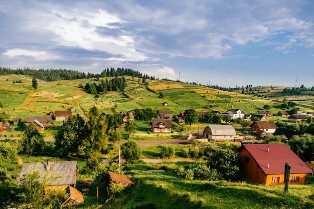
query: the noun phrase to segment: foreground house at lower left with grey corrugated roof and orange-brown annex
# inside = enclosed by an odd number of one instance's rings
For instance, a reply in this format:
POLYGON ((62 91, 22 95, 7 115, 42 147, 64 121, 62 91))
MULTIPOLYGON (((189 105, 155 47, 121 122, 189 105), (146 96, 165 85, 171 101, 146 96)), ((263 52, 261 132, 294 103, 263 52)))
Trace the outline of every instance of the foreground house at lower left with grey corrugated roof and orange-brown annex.
POLYGON ((77 162, 72 161, 47 161, 37 163, 23 163, 20 179, 27 173, 38 171, 40 178, 43 180, 45 175, 57 177, 48 185, 49 189, 65 189, 69 194, 68 198, 63 201, 62 205, 68 204, 84 204, 84 198, 80 191, 75 189, 76 178, 79 172, 77 162))

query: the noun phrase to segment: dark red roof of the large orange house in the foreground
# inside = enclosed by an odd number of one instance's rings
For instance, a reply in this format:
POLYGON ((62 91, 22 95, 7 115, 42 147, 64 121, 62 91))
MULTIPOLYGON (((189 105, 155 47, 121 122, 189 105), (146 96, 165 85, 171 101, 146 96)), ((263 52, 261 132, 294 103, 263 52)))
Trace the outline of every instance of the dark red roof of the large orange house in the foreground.
POLYGON ((284 173, 286 162, 291 165, 291 173, 312 172, 285 144, 243 144, 239 149, 243 147, 252 155, 266 175, 284 173))

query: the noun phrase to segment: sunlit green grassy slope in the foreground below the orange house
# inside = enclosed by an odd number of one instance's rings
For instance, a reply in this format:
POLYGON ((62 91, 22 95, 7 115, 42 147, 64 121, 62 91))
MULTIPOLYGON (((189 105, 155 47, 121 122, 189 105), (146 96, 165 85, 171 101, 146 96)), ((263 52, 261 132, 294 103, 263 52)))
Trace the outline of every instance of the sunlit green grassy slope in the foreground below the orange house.
MULTIPOLYGON (((163 208, 312 208, 313 182, 309 185, 257 186, 245 182, 184 180, 174 174, 176 164, 167 171, 147 172, 137 166, 128 174, 137 185, 132 195, 117 197, 112 208, 134 208, 153 204, 163 208), (158 194, 158 198, 156 195, 158 194)), ((146 168, 148 169, 148 168, 146 168)))

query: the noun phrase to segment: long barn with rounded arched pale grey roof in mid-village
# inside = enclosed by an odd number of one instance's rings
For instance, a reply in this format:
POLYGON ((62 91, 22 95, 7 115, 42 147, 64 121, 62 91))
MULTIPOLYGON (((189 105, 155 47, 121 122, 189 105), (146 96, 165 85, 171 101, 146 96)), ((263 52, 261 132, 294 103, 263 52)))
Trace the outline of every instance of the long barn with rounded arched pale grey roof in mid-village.
POLYGON ((204 128, 204 138, 209 140, 233 140, 237 135, 232 125, 208 125, 204 128))

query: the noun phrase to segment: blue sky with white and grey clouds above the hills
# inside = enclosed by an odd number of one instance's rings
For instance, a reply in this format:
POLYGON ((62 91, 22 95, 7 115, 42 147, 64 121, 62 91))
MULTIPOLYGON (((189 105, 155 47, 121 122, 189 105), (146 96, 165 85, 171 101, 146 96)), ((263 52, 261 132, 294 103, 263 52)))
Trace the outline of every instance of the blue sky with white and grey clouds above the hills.
POLYGON ((0 66, 311 87, 313 11, 311 0, 0 1, 0 66))

